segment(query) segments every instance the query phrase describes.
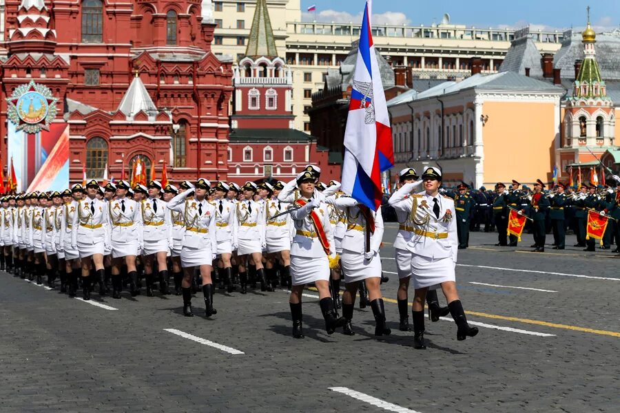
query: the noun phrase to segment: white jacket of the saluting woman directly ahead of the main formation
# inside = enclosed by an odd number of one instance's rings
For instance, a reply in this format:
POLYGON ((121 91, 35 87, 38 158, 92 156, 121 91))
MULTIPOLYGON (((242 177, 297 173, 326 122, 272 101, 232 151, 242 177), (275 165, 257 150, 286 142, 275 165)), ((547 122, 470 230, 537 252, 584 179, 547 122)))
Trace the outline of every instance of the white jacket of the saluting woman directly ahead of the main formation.
POLYGON ((218 251, 215 207, 206 199, 186 200, 189 193, 192 191, 179 193, 167 203, 167 207, 172 211, 183 213, 185 222, 183 246, 200 249, 208 245, 211 248, 211 255, 215 257, 218 251))

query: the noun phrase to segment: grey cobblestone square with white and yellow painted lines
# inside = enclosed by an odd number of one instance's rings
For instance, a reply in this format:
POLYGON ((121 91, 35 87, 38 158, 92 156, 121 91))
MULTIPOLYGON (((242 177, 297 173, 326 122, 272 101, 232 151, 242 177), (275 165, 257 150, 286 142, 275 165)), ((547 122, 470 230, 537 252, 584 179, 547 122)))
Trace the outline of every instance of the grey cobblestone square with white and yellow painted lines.
POLYGON ((327 335, 312 290, 296 340, 282 290, 218 290, 212 319, 198 293, 198 317, 187 318, 174 295, 93 293, 108 310, 0 273, 0 412, 619 411, 614 254, 530 253, 531 235, 508 248, 472 233, 457 284, 479 335, 457 341, 453 322, 426 321, 428 349, 414 350, 413 333, 397 330, 396 227, 386 226, 393 334, 380 338, 370 308, 357 306, 357 335, 327 335))

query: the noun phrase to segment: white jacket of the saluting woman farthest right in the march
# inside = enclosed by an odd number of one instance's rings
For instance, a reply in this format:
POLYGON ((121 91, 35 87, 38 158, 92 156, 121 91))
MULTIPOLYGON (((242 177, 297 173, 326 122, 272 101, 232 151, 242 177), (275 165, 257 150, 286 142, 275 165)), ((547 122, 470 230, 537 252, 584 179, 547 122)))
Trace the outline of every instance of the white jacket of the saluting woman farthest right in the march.
POLYGON ((413 235, 406 248, 413 254, 429 258, 452 257, 457 262, 458 237, 454 200, 437 194, 440 205, 439 218, 433 213, 433 197, 426 191, 409 195, 415 182, 404 184, 390 198, 389 204, 397 211, 411 214, 413 235))

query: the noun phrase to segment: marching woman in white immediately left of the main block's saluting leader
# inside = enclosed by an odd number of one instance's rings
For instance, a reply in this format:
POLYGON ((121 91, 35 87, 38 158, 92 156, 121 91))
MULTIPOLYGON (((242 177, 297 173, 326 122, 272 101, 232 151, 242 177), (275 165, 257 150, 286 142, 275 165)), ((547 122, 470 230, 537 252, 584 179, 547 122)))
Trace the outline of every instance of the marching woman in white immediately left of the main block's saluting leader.
POLYGON ((172 220, 167 202, 159 199, 161 183, 152 180, 148 184, 149 198, 140 204, 143 221, 143 260, 147 284, 147 296, 153 296, 153 271, 155 258, 159 279, 159 292, 168 293, 167 255, 172 248, 172 220))

